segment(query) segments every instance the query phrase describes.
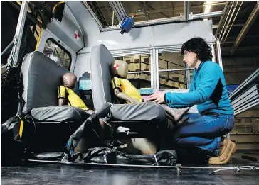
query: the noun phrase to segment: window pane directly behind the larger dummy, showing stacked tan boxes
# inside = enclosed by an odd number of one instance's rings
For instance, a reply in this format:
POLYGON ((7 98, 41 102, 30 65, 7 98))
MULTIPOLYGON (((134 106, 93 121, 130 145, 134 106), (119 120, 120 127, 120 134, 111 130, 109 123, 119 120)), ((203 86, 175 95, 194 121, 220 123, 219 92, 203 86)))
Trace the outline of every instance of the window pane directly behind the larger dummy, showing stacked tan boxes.
POLYGON ((123 60, 128 64, 127 79, 137 88, 151 87, 150 55, 128 55, 115 57, 116 60, 123 60))

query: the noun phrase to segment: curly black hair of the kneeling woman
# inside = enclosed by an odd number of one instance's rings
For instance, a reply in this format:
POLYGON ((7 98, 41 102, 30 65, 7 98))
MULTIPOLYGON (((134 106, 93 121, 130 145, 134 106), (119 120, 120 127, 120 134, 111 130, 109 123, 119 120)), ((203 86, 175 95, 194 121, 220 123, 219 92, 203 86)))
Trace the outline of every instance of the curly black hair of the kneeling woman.
POLYGON ((212 60, 211 47, 205 42, 203 38, 191 38, 181 46, 181 55, 184 51, 194 52, 201 62, 212 60))

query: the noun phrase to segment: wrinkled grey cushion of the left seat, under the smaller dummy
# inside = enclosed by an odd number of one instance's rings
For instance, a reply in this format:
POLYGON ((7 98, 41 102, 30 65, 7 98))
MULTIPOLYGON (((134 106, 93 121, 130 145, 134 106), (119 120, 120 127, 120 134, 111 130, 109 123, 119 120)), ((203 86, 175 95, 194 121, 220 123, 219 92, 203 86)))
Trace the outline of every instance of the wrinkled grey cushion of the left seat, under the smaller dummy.
POLYGON ((39 121, 73 121, 83 123, 90 114, 74 106, 48 106, 33 108, 31 116, 39 121))

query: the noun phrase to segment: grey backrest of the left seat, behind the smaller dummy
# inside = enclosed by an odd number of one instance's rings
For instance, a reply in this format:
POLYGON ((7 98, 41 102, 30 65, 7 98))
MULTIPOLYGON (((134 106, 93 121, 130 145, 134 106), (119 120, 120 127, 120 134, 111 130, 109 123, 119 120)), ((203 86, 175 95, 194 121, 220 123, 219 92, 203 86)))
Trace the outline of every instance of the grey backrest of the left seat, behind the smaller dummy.
POLYGON ((62 76, 68 72, 41 52, 31 52, 23 59, 23 111, 36 107, 58 106, 58 86, 62 76))

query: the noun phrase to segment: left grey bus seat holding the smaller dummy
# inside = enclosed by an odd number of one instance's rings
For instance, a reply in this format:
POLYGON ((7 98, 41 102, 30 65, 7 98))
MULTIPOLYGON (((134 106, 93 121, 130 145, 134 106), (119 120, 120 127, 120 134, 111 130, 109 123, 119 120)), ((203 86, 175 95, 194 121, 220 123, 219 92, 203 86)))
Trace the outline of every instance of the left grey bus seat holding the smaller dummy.
POLYGON ((58 106, 58 86, 66 72, 67 69, 38 51, 23 59, 21 76, 25 104, 22 110, 30 111, 36 123, 34 152, 63 150, 70 135, 90 116, 80 108, 58 106))

